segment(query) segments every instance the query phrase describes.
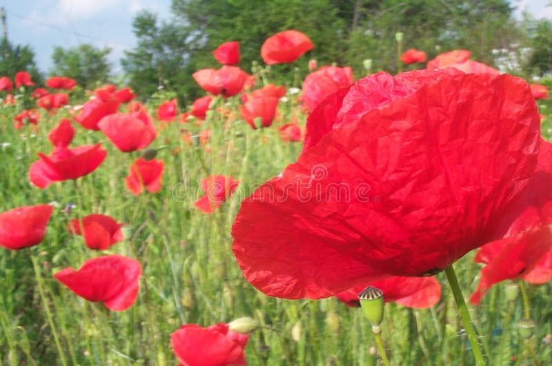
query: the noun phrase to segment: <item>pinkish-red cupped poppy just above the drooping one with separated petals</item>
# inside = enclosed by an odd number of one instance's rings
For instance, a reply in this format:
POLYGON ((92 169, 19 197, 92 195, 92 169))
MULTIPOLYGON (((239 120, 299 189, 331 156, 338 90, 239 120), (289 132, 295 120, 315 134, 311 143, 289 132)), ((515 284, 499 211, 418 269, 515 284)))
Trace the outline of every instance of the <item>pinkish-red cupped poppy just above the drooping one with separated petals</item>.
POLYGON ((157 136, 146 112, 110 114, 99 121, 98 127, 122 152, 147 148, 157 136))

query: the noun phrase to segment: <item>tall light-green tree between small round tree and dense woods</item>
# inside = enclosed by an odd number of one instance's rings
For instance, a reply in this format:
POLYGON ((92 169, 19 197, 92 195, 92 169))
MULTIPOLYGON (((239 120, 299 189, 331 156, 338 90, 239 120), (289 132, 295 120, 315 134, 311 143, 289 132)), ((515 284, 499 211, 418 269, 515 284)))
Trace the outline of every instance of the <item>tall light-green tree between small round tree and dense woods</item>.
MULTIPOLYGON (((128 84, 142 99, 159 88, 168 88, 186 97, 193 85, 188 65, 189 31, 178 23, 160 22, 146 10, 132 21, 137 46, 125 51, 121 65, 128 84)), ((192 93, 193 94, 193 93, 192 93)))

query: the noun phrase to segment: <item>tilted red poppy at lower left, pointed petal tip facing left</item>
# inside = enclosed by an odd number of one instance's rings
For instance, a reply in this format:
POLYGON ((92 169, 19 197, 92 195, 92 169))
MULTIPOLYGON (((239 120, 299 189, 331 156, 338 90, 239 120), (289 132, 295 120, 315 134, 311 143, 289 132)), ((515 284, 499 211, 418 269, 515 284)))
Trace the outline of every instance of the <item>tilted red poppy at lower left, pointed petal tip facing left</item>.
POLYGON ((114 254, 88 259, 80 270, 65 268, 54 277, 78 296, 121 312, 135 302, 141 272, 139 261, 114 254))

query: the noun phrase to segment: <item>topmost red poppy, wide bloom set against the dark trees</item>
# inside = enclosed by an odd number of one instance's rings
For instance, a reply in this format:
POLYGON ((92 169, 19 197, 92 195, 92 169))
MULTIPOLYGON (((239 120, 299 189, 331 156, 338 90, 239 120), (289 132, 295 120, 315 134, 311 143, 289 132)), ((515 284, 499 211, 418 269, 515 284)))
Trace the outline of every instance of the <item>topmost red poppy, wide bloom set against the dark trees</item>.
POLYGON ((292 63, 315 45, 297 30, 284 30, 268 37, 261 47, 261 57, 267 65, 292 63))

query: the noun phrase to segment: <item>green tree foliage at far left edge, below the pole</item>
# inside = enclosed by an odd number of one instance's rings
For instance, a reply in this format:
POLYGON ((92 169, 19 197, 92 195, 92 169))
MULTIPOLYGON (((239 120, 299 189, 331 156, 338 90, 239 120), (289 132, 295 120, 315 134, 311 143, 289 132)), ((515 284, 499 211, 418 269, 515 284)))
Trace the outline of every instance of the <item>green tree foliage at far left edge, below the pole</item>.
POLYGON ((0 39, 0 76, 13 80, 15 73, 19 71, 30 73, 34 83, 42 80, 30 45, 12 45, 6 39, 0 39))

